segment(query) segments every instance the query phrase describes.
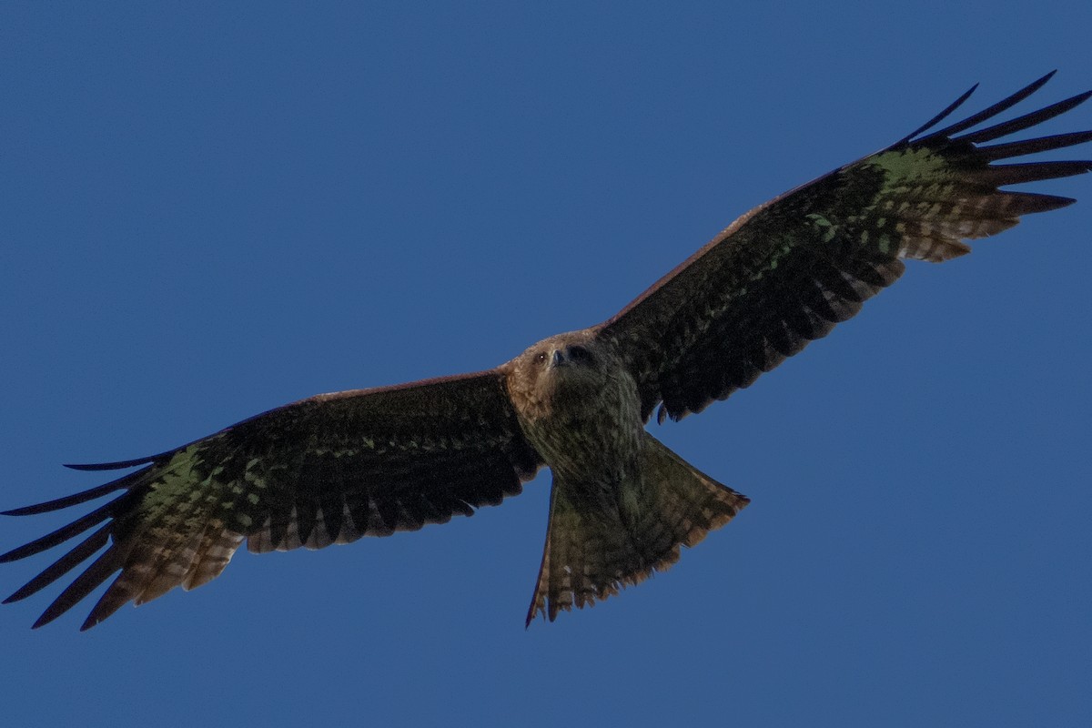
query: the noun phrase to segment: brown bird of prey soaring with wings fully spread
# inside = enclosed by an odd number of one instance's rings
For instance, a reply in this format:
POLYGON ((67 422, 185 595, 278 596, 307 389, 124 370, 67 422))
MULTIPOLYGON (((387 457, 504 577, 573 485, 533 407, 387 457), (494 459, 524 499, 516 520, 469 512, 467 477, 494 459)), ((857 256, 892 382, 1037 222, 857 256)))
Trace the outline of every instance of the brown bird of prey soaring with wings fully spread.
POLYGON ((34 624, 118 574, 88 629, 128 601, 209 582, 244 541, 264 553, 416 530, 515 496, 544 466, 554 482, 527 623, 667 569, 748 499, 664 446, 649 419, 677 420, 749 386, 894 283, 903 260, 958 258, 970 252, 966 239, 1072 203, 1000 188, 1078 175, 1092 162, 997 163, 1092 141, 1092 131, 996 140, 1092 92, 977 128, 1051 75, 934 130, 972 87, 887 148, 750 211, 608 321, 545 338, 495 369, 321 394, 158 455, 70 466, 139 469, 7 511, 111 496, 0 556, 23 559, 91 530, 7 601, 93 559, 34 624))

